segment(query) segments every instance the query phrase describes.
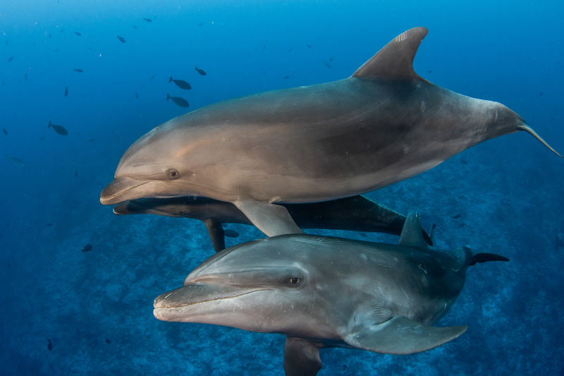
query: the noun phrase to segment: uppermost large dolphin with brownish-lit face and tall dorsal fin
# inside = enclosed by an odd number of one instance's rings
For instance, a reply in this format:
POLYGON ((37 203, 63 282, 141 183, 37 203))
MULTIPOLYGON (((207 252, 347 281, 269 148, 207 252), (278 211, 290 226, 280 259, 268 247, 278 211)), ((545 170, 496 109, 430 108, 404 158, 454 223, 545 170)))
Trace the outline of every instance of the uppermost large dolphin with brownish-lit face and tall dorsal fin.
POLYGON ((205 196, 275 236, 301 232, 275 203, 367 193, 517 131, 553 150, 503 104, 419 77, 425 35, 403 32, 350 78, 229 99, 157 126, 123 154, 100 201, 205 196))

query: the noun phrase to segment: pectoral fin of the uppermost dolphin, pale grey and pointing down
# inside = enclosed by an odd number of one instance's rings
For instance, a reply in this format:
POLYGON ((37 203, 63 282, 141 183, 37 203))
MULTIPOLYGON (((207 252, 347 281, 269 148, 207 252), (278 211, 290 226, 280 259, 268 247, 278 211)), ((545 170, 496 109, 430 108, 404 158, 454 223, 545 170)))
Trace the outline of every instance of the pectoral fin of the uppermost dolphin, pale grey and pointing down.
POLYGON ((282 205, 255 200, 238 200, 233 204, 266 236, 303 234, 282 205))

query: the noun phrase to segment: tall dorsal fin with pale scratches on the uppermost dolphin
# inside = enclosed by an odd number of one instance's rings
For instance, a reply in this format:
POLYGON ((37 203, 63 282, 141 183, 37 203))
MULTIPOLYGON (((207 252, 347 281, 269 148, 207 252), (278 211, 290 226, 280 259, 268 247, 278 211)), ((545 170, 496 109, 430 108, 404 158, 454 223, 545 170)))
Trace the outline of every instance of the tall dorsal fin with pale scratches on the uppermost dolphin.
POLYGON ((413 59, 427 32, 427 28, 412 28, 402 32, 358 68, 353 77, 422 80, 413 70, 413 59))

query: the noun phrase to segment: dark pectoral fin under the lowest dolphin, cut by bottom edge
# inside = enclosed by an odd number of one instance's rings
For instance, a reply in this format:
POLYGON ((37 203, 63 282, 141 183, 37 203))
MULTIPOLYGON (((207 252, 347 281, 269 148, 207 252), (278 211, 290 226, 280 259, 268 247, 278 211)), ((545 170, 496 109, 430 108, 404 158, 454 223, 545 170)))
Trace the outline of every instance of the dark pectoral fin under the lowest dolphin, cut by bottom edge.
POLYGON ((307 339, 286 337, 284 371, 286 376, 315 376, 321 370, 320 346, 307 339))

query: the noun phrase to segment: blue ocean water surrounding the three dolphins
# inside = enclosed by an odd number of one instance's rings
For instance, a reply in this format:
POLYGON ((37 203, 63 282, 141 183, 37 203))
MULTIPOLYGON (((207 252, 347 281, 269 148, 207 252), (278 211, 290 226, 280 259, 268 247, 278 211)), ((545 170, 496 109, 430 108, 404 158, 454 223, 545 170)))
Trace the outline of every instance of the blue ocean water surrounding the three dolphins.
MULTIPOLYGON (((425 26, 419 75, 507 105, 564 152, 563 16, 561 1, 522 0, 1 2, 1 373, 283 375, 281 335, 153 317, 153 299, 214 253, 202 223, 99 202, 129 145, 186 111, 167 93, 197 109, 338 80, 425 26)), ((517 133, 370 193, 436 224, 440 248, 511 261, 469 269, 438 323, 468 325, 455 341, 410 356, 326 349, 319 375, 560 374, 563 176, 563 159, 517 133)), ((241 235, 228 245, 262 237, 229 228, 241 235)))

